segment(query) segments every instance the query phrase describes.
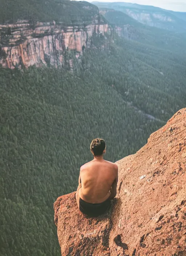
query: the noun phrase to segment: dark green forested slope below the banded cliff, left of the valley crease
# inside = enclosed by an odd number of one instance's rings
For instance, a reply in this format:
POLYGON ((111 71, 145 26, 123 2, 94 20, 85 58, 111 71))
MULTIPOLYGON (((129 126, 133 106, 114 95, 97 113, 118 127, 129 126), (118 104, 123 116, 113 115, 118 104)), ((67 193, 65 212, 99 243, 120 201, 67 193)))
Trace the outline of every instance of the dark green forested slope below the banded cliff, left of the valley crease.
POLYGON ((0 91, 0 255, 60 255, 53 202, 76 189, 91 140, 103 137, 106 159, 116 161, 164 123, 139 115, 93 76, 1 70, 0 91))

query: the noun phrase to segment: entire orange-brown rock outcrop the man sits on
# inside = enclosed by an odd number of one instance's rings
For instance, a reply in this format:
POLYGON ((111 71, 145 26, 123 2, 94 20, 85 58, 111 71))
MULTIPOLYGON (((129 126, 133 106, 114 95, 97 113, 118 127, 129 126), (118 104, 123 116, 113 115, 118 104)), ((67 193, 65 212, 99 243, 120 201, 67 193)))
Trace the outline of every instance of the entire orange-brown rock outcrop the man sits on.
POLYGON ((117 165, 117 198, 107 215, 80 213, 75 192, 54 203, 61 254, 186 256, 186 108, 117 165))

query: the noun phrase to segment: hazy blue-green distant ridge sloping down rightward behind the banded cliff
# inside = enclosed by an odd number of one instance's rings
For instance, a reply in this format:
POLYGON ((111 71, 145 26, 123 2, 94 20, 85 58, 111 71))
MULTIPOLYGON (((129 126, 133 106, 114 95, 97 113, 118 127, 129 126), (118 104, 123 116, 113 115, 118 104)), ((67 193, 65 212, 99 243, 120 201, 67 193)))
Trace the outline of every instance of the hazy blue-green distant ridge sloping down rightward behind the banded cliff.
POLYGON ((105 17, 114 30, 121 37, 126 37, 146 45, 153 45, 155 48, 177 52, 179 55, 186 55, 185 44, 186 35, 165 31, 155 27, 150 27, 134 20, 123 12, 114 9, 100 9, 100 13, 105 17))

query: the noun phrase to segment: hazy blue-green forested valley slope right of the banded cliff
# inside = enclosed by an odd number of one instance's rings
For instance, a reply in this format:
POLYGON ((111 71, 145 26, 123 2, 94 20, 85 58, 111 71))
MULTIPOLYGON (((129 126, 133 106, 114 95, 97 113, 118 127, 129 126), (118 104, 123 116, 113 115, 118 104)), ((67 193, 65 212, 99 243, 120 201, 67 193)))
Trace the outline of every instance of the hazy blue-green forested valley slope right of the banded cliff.
POLYGON ((186 62, 177 53, 115 34, 114 43, 105 51, 87 49, 82 63, 83 76, 95 73, 98 81, 113 86, 125 102, 157 119, 169 119, 170 113, 186 104, 186 62))

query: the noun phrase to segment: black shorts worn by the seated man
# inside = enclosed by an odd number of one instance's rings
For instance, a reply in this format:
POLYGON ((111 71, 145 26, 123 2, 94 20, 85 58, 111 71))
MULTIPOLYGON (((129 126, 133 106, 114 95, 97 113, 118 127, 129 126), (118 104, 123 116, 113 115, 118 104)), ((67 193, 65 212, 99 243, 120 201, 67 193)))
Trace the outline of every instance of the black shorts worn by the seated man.
POLYGON ((100 203, 91 204, 87 203, 80 198, 80 211, 90 217, 97 217, 105 213, 110 208, 110 199, 100 203))

